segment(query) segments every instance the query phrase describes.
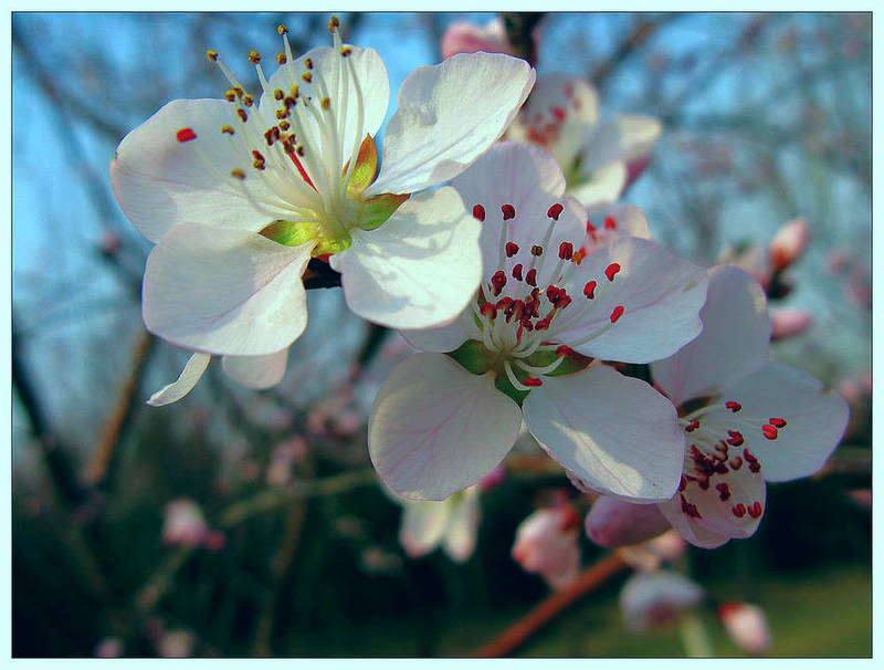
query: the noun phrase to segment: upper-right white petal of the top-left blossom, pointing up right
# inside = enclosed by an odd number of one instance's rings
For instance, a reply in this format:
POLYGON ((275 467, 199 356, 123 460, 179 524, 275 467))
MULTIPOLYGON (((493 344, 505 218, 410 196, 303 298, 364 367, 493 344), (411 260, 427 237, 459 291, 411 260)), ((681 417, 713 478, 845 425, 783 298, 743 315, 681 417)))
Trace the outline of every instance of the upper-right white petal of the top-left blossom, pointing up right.
POLYGON ((399 90, 380 174, 366 195, 413 192, 460 175, 501 137, 534 78, 525 61, 483 52, 412 72, 399 90))

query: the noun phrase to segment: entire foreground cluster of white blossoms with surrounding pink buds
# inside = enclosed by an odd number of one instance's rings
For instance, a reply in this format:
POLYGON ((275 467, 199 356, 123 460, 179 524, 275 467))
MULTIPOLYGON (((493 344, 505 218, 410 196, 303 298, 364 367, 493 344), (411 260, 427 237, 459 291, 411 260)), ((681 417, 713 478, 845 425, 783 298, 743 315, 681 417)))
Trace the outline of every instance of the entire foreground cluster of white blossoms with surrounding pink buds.
MULTIPOLYGON (((767 481, 823 465, 846 404, 769 360, 766 292, 807 244, 804 221, 778 235, 756 278, 674 257, 639 208, 619 203, 660 123, 600 122, 578 77, 534 86, 524 61, 476 51, 512 49, 496 24, 459 38, 473 53, 404 81, 379 151, 383 63, 345 44, 337 19, 329 30, 333 46, 295 57, 281 25, 270 78, 252 52, 257 98, 209 51, 230 81, 224 98, 173 101, 119 145, 114 192, 156 243, 145 323, 193 352, 151 405, 189 392, 211 356, 250 387, 278 383, 307 326, 304 282, 339 275, 356 314, 418 350, 382 385, 368 425, 379 477, 408 501, 400 541, 412 557, 442 546, 469 558, 478 484, 525 428, 600 495, 585 525, 604 546, 670 528, 702 547, 747 537, 767 481), (624 374, 636 367, 644 378, 624 374)), ((293 458, 280 453, 273 482, 288 481, 293 458)), ((579 520, 568 504, 537 511, 513 557, 567 586, 579 520)), ((659 566, 666 552, 631 559, 659 566)), ((657 574, 624 592, 624 608, 659 584, 677 592, 676 609, 701 598, 657 574)))

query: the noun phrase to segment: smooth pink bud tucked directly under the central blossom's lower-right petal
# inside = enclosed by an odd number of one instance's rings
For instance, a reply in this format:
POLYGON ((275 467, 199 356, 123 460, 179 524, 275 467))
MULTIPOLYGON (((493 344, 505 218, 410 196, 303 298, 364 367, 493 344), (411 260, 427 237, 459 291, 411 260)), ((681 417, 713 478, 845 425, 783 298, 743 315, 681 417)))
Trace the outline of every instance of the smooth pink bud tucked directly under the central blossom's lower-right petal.
POLYGON ((638 505, 602 496, 587 514, 587 535, 604 547, 639 544, 665 533, 670 522, 656 505, 638 505))

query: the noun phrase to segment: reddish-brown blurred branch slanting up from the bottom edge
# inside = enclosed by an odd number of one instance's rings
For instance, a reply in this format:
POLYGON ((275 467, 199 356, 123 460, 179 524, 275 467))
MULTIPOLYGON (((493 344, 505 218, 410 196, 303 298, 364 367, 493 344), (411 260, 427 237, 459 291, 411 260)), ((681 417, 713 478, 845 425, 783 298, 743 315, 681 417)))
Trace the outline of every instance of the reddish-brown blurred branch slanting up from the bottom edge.
POLYGON ((530 637, 597 586, 604 584, 628 565, 617 554, 609 554, 590 566, 568 587, 551 594, 522 617, 496 640, 476 651, 478 658, 498 658, 513 653, 530 637))

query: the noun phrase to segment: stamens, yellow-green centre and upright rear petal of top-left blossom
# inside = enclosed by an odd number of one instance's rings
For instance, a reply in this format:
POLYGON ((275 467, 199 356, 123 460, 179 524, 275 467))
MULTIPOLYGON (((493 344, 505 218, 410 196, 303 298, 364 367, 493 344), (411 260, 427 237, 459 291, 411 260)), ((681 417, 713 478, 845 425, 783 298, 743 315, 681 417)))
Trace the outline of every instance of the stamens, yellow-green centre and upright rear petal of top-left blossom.
MULTIPOLYGON (((273 222, 262 234, 282 244, 315 241, 315 257, 347 249, 350 230, 379 226, 408 198, 362 198, 377 175, 378 155, 366 133, 364 92, 350 57, 354 48, 341 43, 338 27, 333 17, 328 28, 334 46, 318 51, 314 62, 294 60, 288 30, 280 25, 284 52, 276 55, 280 70, 273 85, 264 76, 261 54, 250 52, 263 90, 260 104, 218 52, 208 51, 207 57, 231 84, 225 98, 233 115, 220 133, 240 165, 223 175, 194 143, 207 169, 267 213, 273 222)), ((177 139, 191 142, 197 136, 192 128, 182 128, 177 139)))

